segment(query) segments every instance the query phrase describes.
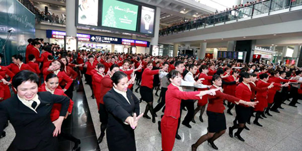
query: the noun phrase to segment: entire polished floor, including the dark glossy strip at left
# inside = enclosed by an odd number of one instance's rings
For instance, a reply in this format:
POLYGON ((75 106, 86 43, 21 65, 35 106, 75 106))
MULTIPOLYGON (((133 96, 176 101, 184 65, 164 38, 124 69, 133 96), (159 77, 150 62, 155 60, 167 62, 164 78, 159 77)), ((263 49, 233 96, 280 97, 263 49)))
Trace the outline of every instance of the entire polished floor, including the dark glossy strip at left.
MULTIPOLYGON (((84 80, 84 79, 83 79, 84 80)), ((135 85, 136 87, 136 85, 135 85)), ((103 142, 97 145, 97 137, 100 135, 100 122, 97 112, 96 100, 92 99, 91 90, 88 85, 80 84, 77 91, 73 92, 73 111, 72 115, 64 121, 63 130, 68 130, 72 135, 81 139, 81 150, 108 150, 106 137, 103 142)), ((134 94, 140 98, 139 93, 134 94)), ((154 95, 154 106, 157 104, 158 97, 154 95)), ((302 101, 300 101, 302 102, 302 101)), ((286 101, 286 104, 289 102, 286 101)), ((144 111, 146 103, 140 103, 140 112, 144 111)), ((196 105, 196 104, 195 104, 196 105)), ((246 140, 242 142, 237 138, 231 138, 226 132, 215 141, 219 150, 302 150, 302 105, 297 104, 297 108, 288 105, 282 105, 281 113, 271 112, 273 117, 260 119, 259 122, 263 127, 254 124, 247 125, 251 130, 244 130, 242 137, 246 140)), ((182 117, 186 115, 183 111, 182 117)), ((235 110, 232 110, 233 116, 226 114, 226 125, 232 126, 235 118, 235 110)), ((161 111, 158 112, 160 120, 161 111)), ((150 116, 150 113, 148 113, 150 116)), ((175 140, 173 150, 187 151, 190 146, 201 135, 207 132, 207 116, 203 115, 204 122, 200 122, 195 116, 196 123, 190 123, 192 128, 184 125, 180 126, 179 134, 181 140, 175 140)), ((254 117, 252 117, 254 120, 254 117)), ((14 129, 11 124, 6 128, 7 136, 0 139, 0 150, 7 150, 13 138, 15 137, 14 129)), ((157 123, 151 120, 141 118, 138 127, 135 129, 136 148, 138 151, 161 150, 161 134, 158 131, 157 123)), ((73 143, 60 139, 60 150, 71 150, 73 143)), ((197 150, 214 150, 207 143, 201 144, 197 150)))

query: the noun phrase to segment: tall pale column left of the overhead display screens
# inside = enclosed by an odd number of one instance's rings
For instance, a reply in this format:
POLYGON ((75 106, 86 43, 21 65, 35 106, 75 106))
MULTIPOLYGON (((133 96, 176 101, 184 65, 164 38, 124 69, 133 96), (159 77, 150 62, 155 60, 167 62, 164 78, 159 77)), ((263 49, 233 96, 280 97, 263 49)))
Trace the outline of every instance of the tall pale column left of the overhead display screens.
POLYGON ((75 27, 75 1, 66 1, 66 36, 77 36, 75 27))

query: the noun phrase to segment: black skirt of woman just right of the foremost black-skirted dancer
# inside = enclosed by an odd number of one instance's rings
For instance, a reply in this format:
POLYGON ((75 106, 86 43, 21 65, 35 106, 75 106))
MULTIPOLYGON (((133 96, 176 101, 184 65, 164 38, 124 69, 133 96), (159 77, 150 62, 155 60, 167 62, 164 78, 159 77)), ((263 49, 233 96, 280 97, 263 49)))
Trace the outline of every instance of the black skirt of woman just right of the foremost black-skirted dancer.
POLYGON ((238 123, 244 124, 249 120, 251 116, 250 107, 236 105, 235 110, 236 110, 236 118, 238 119, 238 123))

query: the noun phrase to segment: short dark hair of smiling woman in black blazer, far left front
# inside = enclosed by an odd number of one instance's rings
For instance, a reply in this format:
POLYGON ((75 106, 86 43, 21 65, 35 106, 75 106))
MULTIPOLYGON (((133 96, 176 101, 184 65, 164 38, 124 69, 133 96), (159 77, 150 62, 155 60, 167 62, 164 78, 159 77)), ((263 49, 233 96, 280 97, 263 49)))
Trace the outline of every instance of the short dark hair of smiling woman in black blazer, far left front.
POLYGON ((31 81, 39 85, 39 77, 36 73, 29 70, 22 70, 18 72, 12 80, 13 87, 17 90, 17 87, 20 86, 23 82, 31 81))

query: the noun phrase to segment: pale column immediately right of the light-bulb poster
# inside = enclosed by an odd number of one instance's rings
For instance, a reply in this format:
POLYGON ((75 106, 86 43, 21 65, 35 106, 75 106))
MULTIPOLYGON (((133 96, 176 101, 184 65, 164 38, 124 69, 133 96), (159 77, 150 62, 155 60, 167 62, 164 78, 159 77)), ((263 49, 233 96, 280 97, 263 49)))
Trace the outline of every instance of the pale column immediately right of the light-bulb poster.
POLYGON ((161 8, 156 7, 154 37, 151 38, 150 48, 149 48, 149 54, 151 55, 152 55, 153 46, 159 45, 160 18, 161 18, 161 8))

